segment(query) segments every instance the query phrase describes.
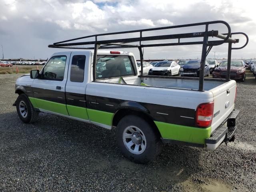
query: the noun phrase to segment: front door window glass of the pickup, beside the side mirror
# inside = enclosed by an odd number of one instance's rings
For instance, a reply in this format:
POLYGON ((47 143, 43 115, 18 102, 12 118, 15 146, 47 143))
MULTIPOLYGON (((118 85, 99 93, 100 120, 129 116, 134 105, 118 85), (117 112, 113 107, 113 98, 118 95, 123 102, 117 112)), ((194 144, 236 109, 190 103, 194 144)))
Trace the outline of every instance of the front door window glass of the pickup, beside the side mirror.
POLYGON ((43 68, 43 78, 62 81, 64 79, 66 56, 53 56, 43 68))

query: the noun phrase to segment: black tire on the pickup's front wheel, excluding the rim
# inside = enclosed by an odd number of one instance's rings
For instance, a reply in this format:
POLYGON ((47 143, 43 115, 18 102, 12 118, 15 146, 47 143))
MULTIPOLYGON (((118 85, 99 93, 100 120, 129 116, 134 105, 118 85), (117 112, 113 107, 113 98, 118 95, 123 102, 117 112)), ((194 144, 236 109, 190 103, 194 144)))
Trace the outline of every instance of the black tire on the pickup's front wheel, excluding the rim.
POLYGON ((24 123, 34 123, 38 119, 38 112, 32 106, 28 96, 25 94, 20 94, 16 100, 16 110, 20 120, 24 123), (26 117, 22 116, 20 112, 20 103, 24 102, 26 105, 27 115, 26 117))

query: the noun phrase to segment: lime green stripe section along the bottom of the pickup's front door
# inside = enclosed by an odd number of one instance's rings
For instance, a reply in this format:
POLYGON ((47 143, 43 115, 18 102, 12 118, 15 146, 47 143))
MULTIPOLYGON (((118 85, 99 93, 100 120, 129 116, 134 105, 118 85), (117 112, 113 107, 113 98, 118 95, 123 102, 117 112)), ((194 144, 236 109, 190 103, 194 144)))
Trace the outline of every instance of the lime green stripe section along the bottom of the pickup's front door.
POLYGON ((47 111, 52 111, 63 115, 68 115, 66 104, 56 103, 32 97, 29 97, 29 100, 35 108, 44 109, 47 111))

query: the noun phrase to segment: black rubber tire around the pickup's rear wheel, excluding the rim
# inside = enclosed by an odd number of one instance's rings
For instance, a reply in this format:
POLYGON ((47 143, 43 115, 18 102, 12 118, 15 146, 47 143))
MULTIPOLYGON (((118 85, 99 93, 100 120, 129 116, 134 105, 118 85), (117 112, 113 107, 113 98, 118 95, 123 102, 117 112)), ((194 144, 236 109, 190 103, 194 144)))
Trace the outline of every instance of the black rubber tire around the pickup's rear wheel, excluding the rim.
POLYGON ((124 118, 122 118, 117 125, 116 140, 119 149, 126 158, 139 164, 148 163, 158 156, 162 149, 162 141, 160 137, 160 133, 158 130, 156 130, 156 128, 154 128, 154 126, 136 115, 124 116, 124 118), (130 152, 124 144, 123 133, 129 126, 138 127, 140 130, 142 130, 144 137, 146 138, 146 147, 144 152, 141 154, 134 154, 130 152))

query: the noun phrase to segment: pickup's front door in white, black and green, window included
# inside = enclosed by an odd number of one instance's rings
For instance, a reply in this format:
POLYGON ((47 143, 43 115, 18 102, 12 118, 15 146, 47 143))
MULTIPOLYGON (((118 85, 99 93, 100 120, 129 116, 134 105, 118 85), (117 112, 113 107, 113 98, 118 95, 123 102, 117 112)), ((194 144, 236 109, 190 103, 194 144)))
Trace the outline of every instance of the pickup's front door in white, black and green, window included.
POLYGON ((53 55, 41 70, 41 78, 34 79, 32 90, 34 107, 41 111, 68 115, 65 84, 68 76, 70 52, 53 55))

